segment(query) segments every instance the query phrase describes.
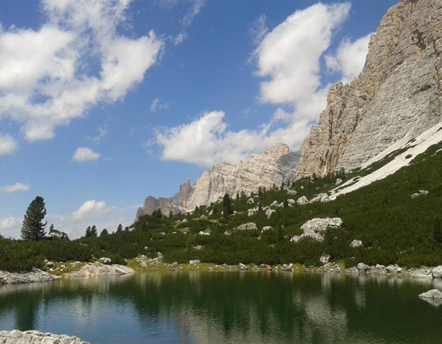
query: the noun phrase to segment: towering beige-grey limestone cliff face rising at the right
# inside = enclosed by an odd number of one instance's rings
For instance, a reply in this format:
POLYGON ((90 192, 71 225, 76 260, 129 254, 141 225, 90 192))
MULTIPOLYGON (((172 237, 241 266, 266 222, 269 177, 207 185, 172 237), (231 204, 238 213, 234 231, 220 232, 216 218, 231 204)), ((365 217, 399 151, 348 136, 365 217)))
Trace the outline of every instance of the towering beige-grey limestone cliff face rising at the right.
POLYGON ((301 148, 298 176, 354 170, 441 121, 442 1, 402 0, 370 39, 363 71, 329 91, 301 148))

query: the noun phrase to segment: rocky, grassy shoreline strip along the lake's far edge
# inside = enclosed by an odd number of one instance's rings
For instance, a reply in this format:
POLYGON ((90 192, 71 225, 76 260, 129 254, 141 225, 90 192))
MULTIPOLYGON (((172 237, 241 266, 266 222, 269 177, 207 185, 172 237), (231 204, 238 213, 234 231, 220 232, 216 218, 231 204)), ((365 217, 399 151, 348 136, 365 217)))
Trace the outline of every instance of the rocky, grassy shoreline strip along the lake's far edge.
POLYGON ((165 263, 155 259, 129 259, 127 265, 93 263, 57 263, 59 266, 73 265, 74 270, 51 273, 33 269, 31 272, 0 271, 0 286, 8 284, 28 284, 54 281, 56 279, 93 278, 119 275, 132 275, 136 272, 285 272, 285 273, 317 273, 336 275, 368 275, 385 277, 402 277, 421 280, 442 281, 442 265, 436 267, 402 268, 398 265, 365 265, 358 263, 352 268, 345 268, 343 263, 326 263, 322 266, 305 266, 301 264, 228 265, 215 263, 165 263), (150 263, 143 263, 145 261, 150 263), (153 262, 152 262, 153 260, 153 262))

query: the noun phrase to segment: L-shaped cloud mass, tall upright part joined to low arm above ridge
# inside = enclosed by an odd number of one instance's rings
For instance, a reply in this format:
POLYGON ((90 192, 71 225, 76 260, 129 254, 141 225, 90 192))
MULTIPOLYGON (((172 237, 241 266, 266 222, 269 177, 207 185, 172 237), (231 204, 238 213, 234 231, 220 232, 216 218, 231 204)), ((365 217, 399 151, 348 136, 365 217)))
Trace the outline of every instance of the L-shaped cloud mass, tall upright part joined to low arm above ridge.
POLYGON ((210 166, 244 159, 277 142, 298 149, 326 106, 329 85, 321 83, 322 58, 331 45, 333 31, 348 17, 350 8, 349 3, 317 3, 293 13, 271 31, 265 16, 258 17, 251 35, 257 44, 253 53, 257 75, 263 79, 260 100, 283 108, 277 108, 269 122, 255 130, 229 130, 221 111, 158 130, 161 157, 210 166))

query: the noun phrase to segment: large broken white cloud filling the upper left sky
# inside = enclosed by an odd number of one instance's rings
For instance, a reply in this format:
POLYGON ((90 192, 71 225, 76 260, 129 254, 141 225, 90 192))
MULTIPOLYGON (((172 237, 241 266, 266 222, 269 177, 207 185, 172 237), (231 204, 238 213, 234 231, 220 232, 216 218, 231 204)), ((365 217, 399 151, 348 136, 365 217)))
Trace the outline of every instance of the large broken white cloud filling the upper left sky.
POLYGON ((119 33, 131 0, 40 2, 47 17, 40 28, 0 29, 0 120, 19 122, 29 141, 52 138, 90 106, 124 97, 163 46, 153 32, 119 33))

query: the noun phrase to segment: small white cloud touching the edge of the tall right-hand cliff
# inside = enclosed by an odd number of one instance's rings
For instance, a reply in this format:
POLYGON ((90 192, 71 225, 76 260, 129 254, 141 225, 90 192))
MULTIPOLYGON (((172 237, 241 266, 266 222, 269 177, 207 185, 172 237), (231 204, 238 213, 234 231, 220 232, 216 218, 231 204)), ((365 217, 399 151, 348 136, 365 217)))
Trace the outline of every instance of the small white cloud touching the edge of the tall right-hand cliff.
POLYGON ((331 72, 342 73, 342 82, 351 83, 361 73, 368 54, 371 33, 354 42, 342 40, 335 56, 325 56, 326 65, 331 72))

